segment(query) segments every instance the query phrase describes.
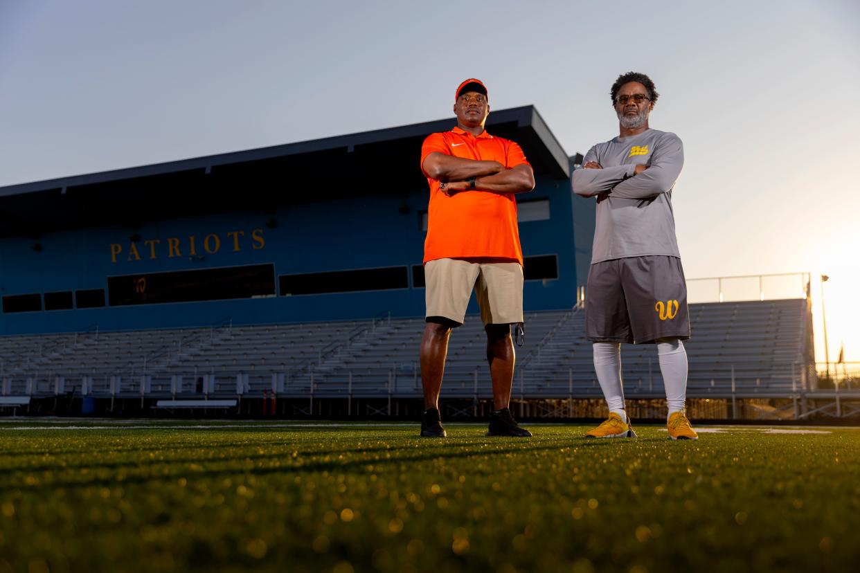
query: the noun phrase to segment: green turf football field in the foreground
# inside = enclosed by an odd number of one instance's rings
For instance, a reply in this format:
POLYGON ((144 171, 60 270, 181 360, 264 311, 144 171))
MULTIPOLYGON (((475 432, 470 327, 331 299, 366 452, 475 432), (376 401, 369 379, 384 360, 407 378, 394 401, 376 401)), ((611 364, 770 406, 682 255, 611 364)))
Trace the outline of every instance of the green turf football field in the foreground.
POLYGON ((527 425, 0 419, 0 573, 857 570, 860 430, 527 425))

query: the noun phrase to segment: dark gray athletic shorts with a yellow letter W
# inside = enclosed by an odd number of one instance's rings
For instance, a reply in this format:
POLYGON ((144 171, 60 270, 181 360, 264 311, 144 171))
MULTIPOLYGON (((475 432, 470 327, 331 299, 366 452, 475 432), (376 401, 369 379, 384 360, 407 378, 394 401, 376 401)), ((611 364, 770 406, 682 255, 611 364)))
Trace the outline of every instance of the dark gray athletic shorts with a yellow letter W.
POLYGON ((653 343, 690 338, 687 285, 681 259, 630 257, 594 263, 586 287, 586 338, 653 343))

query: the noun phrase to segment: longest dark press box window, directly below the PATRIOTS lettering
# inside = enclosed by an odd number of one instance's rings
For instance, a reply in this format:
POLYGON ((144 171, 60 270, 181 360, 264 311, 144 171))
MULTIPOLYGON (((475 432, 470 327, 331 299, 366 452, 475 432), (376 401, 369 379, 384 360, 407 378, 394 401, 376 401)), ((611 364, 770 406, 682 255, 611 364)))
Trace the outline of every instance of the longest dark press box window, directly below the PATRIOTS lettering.
POLYGON ((107 277, 107 291, 112 307, 274 296, 274 265, 107 277))

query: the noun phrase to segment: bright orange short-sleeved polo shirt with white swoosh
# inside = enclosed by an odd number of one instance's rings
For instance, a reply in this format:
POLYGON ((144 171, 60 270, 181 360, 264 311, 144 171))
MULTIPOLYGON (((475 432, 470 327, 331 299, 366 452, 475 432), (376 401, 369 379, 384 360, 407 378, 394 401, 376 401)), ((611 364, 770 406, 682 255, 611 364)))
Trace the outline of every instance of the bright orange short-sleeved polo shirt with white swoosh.
MULTIPOLYGON (((517 143, 487 131, 475 137, 459 127, 427 136, 421 146, 422 172, 424 160, 433 152, 500 162, 508 169, 529 164, 517 143)), ((463 191, 448 197, 439 190, 439 181, 426 173, 424 176, 430 185, 425 263, 435 259, 494 258, 523 264, 513 193, 463 191)))

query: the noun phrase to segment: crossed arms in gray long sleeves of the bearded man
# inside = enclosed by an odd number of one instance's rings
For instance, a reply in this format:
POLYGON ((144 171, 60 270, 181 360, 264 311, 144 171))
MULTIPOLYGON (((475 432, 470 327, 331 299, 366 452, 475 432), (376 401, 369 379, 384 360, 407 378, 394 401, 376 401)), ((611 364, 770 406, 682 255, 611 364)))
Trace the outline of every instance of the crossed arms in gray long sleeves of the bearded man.
POLYGON ((672 189, 684 167, 684 146, 678 137, 658 143, 647 165, 602 167, 595 148, 588 151, 586 162, 574 171, 571 180, 574 193, 581 197, 627 199, 654 198, 672 189))

